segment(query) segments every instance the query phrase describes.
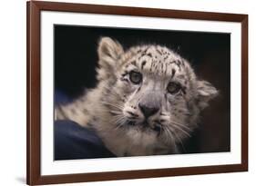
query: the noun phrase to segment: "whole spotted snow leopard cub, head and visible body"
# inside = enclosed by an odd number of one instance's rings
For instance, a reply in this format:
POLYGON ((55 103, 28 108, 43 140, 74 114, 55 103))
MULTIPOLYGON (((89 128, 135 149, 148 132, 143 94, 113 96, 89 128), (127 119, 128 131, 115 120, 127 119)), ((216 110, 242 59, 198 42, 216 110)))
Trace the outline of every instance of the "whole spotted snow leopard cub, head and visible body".
POLYGON ((179 153, 179 143, 197 126, 216 88, 199 80, 189 62, 165 46, 124 51, 103 37, 97 54, 97 87, 56 107, 55 119, 93 127, 117 156, 179 153))

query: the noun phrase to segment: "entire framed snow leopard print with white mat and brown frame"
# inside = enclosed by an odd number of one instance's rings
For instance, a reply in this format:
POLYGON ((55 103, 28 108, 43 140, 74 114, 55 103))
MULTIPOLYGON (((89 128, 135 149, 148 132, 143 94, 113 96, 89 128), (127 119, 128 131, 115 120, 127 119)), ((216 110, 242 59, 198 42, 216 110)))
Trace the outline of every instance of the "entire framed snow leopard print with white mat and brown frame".
POLYGON ((27 2, 27 184, 248 170, 248 15, 27 2))

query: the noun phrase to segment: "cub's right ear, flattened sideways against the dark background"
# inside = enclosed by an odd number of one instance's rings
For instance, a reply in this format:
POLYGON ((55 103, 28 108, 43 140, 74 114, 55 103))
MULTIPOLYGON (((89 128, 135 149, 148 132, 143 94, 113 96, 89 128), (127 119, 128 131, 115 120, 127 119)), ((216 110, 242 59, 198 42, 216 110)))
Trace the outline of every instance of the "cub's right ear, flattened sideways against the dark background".
POLYGON ((207 81, 198 81, 197 91, 198 91, 199 107, 201 110, 207 107, 209 101, 215 98, 219 93, 218 90, 211 83, 207 81))

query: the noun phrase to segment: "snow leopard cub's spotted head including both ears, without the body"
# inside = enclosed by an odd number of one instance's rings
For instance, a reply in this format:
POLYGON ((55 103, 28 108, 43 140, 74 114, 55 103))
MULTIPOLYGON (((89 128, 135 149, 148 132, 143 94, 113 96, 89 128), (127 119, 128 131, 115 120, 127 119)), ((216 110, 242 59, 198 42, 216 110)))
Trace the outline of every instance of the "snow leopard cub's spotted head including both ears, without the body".
POLYGON ((179 143, 218 93, 197 79, 185 59, 164 46, 141 45, 125 52, 118 42, 104 37, 98 55, 102 104, 112 117, 111 125, 135 143, 179 143))

